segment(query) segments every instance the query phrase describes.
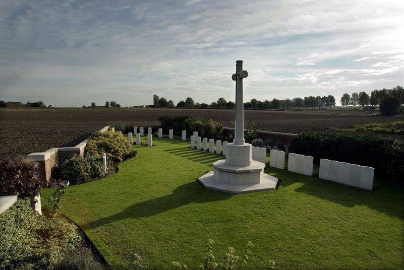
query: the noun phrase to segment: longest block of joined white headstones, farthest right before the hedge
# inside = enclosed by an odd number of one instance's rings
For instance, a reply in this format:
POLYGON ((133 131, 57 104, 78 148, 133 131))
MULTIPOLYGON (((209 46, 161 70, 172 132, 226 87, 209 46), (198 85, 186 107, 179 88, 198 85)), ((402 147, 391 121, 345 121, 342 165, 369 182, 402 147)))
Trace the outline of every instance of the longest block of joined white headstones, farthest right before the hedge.
POLYGON ((374 173, 375 169, 372 167, 320 159, 318 177, 345 185, 372 190, 374 173))

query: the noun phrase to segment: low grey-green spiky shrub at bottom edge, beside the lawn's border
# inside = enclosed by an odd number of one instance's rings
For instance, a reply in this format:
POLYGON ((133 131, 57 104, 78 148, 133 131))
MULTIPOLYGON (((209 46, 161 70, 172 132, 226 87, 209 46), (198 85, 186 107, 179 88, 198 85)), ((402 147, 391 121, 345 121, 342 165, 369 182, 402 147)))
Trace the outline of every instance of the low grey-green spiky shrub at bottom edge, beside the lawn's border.
POLYGON ((94 259, 90 248, 79 247, 73 250, 67 258, 57 264, 53 270, 103 270, 106 269, 94 259))

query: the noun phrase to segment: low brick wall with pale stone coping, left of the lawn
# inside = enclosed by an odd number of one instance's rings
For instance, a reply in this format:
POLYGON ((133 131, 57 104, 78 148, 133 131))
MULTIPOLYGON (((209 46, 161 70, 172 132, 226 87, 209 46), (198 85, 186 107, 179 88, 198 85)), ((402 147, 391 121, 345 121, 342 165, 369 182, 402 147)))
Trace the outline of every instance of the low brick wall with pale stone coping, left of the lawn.
MULTIPOLYGON (((101 132, 108 130, 109 126, 103 127, 101 132)), ((84 148, 87 145, 88 140, 85 140, 75 147, 60 147, 51 148, 41 153, 31 153, 27 155, 27 158, 38 164, 37 174, 38 177, 46 184, 49 183, 52 177, 52 169, 55 167, 56 154, 59 153, 61 162, 74 157, 75 155, 83 156, 84 148)))

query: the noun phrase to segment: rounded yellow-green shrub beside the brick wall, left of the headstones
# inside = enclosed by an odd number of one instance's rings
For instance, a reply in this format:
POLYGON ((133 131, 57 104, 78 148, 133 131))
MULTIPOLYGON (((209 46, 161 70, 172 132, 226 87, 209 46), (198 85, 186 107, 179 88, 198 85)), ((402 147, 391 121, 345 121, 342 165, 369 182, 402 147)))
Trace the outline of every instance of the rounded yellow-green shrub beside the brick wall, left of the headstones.
POLYGON ((106 153, 107 160, 123 161, 128 157, 136 156, 129 141, 119 132, 94 132, 88 139, 86 146, 90 156, 102 156, 106 153))

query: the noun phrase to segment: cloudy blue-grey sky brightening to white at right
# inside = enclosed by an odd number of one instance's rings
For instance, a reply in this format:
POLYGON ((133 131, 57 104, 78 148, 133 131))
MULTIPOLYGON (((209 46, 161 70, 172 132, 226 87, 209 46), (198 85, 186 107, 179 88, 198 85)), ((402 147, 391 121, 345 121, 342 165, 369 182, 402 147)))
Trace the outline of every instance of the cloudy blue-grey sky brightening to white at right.
POLYGON ((404 85, 404 2, 0 2, 0 100, 244 101, 404 85))

